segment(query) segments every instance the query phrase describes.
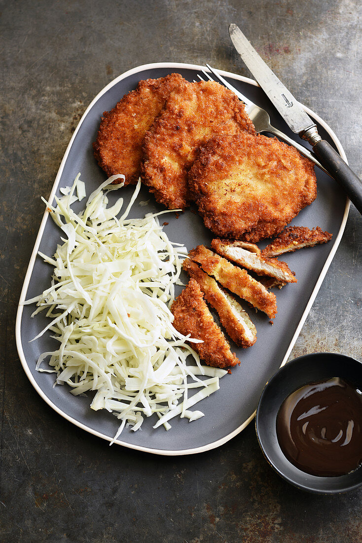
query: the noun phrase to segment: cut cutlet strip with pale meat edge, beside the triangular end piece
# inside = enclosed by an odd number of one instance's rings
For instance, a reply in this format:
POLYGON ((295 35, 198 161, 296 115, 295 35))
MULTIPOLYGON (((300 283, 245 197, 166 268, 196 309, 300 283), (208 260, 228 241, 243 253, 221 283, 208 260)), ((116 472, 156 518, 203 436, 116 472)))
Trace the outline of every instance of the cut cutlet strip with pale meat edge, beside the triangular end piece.
POLYGON ((256 342, 256 327, 239 302, 220 288, 218 283, 190 258, 185 258, 182 268, 190 279, 199 283, 206 300, 218 313, 220 323, 231 339, 243 348, 253 345, 256 342))

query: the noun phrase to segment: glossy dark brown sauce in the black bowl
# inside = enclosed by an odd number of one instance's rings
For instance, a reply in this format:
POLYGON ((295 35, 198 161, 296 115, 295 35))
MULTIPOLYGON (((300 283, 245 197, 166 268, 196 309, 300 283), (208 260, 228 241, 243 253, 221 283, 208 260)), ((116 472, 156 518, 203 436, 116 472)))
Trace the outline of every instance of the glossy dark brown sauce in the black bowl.
POLYGON ((284 400, 277 438, 289 462, 320 477, 349 473, 362 463, 362 394, 333 377, 309 383, 284 400))

